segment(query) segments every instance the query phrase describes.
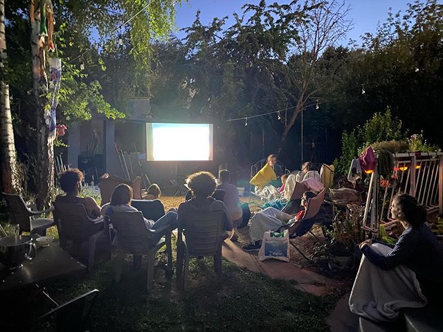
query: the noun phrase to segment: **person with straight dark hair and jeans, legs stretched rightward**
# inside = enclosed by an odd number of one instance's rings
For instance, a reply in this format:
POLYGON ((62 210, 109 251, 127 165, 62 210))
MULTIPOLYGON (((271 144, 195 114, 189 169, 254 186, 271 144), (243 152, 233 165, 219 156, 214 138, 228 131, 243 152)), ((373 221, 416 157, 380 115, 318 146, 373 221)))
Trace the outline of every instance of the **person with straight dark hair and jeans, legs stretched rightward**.
MULTIPOLYGON (((104 216, 112 216, 113 212, 138 211, 131 206, 132 187, 121 184, 112 192, 111 201, 102 206, 101 214, 104 216)), ((171 225, 171 228, 177 228, 177 212, 168 212, 159 220, 153 221, 145 218, 146 228, 156 230, 163 228, 165 225, 171 225)))

